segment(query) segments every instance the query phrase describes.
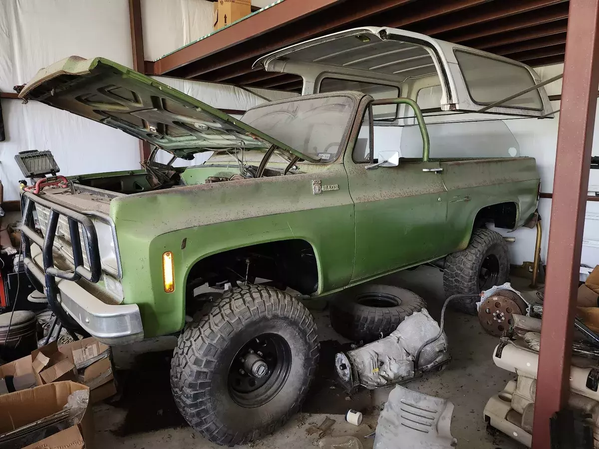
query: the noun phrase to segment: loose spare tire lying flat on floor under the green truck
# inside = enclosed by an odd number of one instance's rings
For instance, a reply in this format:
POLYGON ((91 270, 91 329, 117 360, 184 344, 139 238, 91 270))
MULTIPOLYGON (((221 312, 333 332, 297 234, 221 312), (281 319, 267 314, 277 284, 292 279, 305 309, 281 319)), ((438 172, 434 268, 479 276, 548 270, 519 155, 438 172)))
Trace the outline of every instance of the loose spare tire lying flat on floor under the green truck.
POLYGON ((404 318, 424 307, 424 300, 410 290, 362 285, 338 293, 333 299, 331 326, 347 339, 370 343, 389 335, 404 318))

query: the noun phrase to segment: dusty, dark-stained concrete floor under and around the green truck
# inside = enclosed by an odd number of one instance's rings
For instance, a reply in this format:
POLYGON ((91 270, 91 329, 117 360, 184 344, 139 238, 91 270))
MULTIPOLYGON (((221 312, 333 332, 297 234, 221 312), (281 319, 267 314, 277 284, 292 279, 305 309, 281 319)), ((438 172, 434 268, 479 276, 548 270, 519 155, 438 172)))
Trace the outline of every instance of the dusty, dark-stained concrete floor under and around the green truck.
MULTIPOLYGON (((392 284, 413 290, 428 304, 431 315, 438 319, 443 302, 442 274, 438 269, 422 266, 413 271, 389 275, 379 283, 392 284)), ((316 309, 322 302, 315 302, 316 309)), ((330 327, 328 310, 313 309, 319 326, 322 345, 320 370, 310 394, 295 416, 273 435, 251 445, 272 449, 299 449, 318 446, 318 435, 311 433, 314 424, 323 418, 335 420, 328 436, 358 436, 365 449, 373 446, 372 438, 362 438, 373 432, 379 415, 379 406, 386 401, 391 389, 370 392, 362 389, 352 397, 337 386, 333 373, 333 357, 343 338, 330 327), (361 426, 343 420, 349 408, 364 413, 361 426)), ((458 447, 470 449, 515 449, 521 445, 503 434, 490 435, 482 411, 488 398, 503 389, 513 378, 509 372, 497 368, 492 362, 492 351, 498 339, 480 328, 477 317, 447 311, 446 333, 449 339, 452 362, 444 371, 428 374, 406 384, 409 389, 449 399, 455 405, 452 434, 458 447)), ((94 409, 96 445, 127 449, 217 448, 187 426, 170 396, 168 369, 174 338, 141 342, 129 347, 114 348, 120 372, 123 393, 110 404, 94 409), (152 351, 152 352, 147 352, 152 351)))

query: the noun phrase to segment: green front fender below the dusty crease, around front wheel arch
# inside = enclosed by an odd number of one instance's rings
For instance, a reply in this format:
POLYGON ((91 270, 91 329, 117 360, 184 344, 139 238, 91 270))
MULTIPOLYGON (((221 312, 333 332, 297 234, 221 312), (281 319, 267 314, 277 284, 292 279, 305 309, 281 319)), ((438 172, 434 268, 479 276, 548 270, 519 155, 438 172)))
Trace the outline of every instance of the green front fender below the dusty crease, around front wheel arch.
POLYGON ((312 246, 318 269, 318 295, 349 283, 354 257, 351 243, 355 237, 353 208, 344 205, 176 230, 155 236, 149 245, 144 245, 139 236, 128 236, 122 251, 131 256, 122 260, 125 302, 139 305, 147 337, 177 332, 184 326, 185 287, 195 263, 223 251, 287 239, 302 239, 312 246), (175 289, 171 293, 164 291, 165 251, 173 253, 175 289), (135 274, 129 277, 132 271, 135 274))

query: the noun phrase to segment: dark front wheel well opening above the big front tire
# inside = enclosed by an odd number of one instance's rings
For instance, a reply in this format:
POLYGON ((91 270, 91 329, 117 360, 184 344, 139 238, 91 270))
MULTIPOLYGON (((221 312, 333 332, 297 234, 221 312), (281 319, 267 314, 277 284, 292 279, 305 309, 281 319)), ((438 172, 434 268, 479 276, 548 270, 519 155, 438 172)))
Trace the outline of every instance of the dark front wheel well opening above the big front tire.
POLYGON ((278 289, 287 287, 302 295, 318 290, 318 268, 312 245, 302 239, 290 239, 250 245, 223 251, 198 260, 189 271, 186 298, 204 284, 256 280, 278 289))

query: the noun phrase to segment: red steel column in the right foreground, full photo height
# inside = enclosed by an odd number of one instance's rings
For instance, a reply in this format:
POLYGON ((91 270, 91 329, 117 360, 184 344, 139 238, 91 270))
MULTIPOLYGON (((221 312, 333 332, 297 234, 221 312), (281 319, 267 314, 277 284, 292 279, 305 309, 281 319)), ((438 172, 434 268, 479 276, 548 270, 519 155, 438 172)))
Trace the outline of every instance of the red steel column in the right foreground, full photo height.
POLYGON ((599 85, 599 1, 570 0, 547 256, 533 449, 567 404, 580 251, 599 85))

